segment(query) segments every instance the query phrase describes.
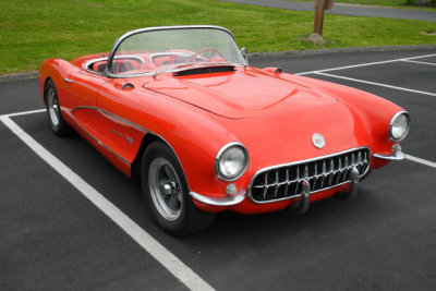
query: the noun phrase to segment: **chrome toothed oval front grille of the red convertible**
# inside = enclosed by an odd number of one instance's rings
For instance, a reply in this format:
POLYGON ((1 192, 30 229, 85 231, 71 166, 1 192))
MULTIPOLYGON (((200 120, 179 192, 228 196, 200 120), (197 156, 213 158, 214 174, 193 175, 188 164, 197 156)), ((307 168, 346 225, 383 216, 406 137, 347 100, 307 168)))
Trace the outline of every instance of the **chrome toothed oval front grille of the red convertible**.
POLYGON ((252 179, 249 195, 255 203, 270 203, 299 197, 303 181, 311 185, 311 193, 339 186, 351 181, 351 170, 359 177, 370 167, 371 151, 366 147, 354 148, 325 157, 269 167, 252 179))

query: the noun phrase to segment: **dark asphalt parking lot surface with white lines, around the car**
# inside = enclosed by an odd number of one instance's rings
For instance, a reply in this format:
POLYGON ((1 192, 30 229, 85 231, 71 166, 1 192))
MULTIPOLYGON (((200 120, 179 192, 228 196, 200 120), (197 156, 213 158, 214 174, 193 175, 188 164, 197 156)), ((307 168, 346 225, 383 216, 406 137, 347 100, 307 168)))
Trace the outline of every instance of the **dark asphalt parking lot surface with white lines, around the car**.
POLYGON ((272 53, 251 64, 402 106, 408 159, 373 171, 354 201, 301 216, 223 213, 175 239, 153 222, 137 181, 78 135, 50 132, 36 80, 0 83, 0 290, 435 290, 436 51, 272 53))

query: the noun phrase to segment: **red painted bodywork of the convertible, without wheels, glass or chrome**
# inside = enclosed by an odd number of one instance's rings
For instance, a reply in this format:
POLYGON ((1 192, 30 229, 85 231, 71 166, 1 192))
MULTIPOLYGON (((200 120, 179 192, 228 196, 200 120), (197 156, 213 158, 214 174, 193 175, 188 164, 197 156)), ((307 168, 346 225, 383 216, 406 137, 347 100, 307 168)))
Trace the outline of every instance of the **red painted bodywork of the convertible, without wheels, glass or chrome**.
MULTIPOLYGON (((246 66, 180 77, 168 73, 108 78, 85 70, 86 63, 97 58, 101 54, 44 62, 39 71, 41 95, 45 82, 52 78, 65 121, 129 177, 144 137, 159 136, 179 158, 190 190, 209 197, 227 196, 229 182, 216 175, 214 161, 230 142, 242 143, 249 151, 249 167, 233 182, 238 190, 247 191, 252 177, 266 167, 361 146, 372 153, 391 153, 395 143, 388 137, 389 122, 402 111, 367 93, 277 74, 272 69, 246 66), (123 89, 126 83, 133 88, 123 89), (318 132, 326 140, 322 149, 312 143, 312 135, 318 132)), ((372 158, 371 169, 387 162, 372 158)), ((315 193, 311 202, 344 187, 315 193)), ((230 208, 249 214, 282 209, 293 199, 261 205, 245 197, 228 207, 194 203, 208 211, 230 208)))

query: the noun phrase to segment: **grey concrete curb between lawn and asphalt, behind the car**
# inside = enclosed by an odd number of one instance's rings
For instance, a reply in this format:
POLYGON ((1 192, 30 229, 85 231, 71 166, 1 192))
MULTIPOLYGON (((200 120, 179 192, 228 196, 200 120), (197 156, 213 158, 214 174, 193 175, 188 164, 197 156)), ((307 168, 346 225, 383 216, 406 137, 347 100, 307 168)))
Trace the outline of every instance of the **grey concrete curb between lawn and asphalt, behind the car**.
MULTIPOLYGON (((252 59, 262 57, 330 54, 330 53, 360 52, 360 51, 399 51, 399 50, 432 50, 432 49, 436 50, 436 45, 395 46, 395 47, 353 47, 353 48, 334 48, 334 49, 306 49, 306 50, 253 52, 249 53, 249 58, 252 59)), ((36 77, 38 77, 38 72, 36 71, 23 74, 2 75, 0 76, 0 83, 36 78, 36 77)))

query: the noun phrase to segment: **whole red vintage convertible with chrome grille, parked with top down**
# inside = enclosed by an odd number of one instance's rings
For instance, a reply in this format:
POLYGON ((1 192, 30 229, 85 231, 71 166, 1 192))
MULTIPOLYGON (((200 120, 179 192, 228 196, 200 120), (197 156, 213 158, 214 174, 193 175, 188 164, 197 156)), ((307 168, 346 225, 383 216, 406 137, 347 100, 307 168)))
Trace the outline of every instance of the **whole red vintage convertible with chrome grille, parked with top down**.
POLYGON ((51 130, 74 129, 128 177, 157 223, 197 232, 215 214, 257 214, 356 194, 403 159, 409 113, 350 87, 247 64, 218 26, 136 29, 109 53, 46 60, 51 130))

